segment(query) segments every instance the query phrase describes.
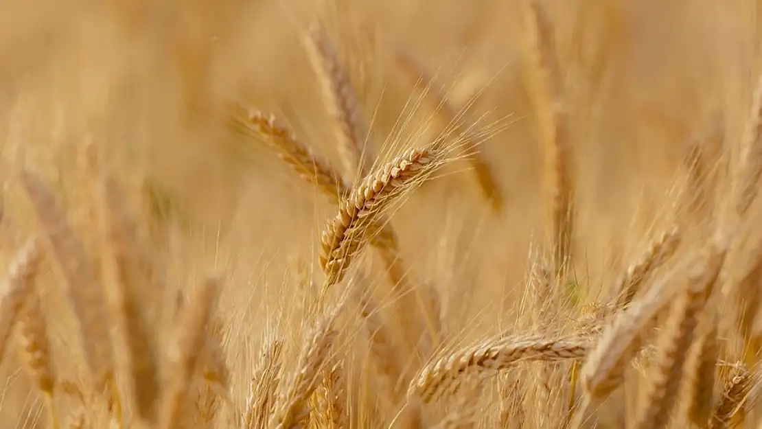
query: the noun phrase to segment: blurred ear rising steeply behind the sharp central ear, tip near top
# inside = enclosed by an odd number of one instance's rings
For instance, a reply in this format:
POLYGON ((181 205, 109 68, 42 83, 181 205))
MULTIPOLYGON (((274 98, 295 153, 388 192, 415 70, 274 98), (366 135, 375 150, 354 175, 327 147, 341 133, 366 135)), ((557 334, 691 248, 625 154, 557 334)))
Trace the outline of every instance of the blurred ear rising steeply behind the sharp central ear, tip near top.
POLYGON ((367 172, 367 154, 364 152, 368 132, 363 124, 357 94, 347 71, 338 61, 336 46, 325 28, 312 24, 305 45, 322 86, 323 103, 334 121, 341 162, 344 164, 344 178, 354 183, 367 172))

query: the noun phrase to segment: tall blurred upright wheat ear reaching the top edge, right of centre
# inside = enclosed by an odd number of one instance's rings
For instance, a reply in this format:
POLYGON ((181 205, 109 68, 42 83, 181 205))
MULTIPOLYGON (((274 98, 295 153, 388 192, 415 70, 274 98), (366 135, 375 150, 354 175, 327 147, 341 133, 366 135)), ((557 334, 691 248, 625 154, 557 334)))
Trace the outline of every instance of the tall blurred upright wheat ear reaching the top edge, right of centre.
POLYGON ((549 210, 550 239, 556 275, 563 274, 571 264, 574 200, 572 197, 571 142, 568 136, 562 78, 555 53, 555 34, 552 24, 536 0, 523 5, 527 24, 527 53, 536 75, 535 91, 539 143, 544 152, 545 187, 549 210))

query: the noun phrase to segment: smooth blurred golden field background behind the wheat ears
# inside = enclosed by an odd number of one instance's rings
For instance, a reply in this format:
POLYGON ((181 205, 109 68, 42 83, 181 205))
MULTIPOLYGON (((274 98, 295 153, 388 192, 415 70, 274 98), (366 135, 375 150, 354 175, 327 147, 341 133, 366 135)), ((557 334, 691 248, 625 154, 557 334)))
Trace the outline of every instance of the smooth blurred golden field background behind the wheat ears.
MULTIPOLYGON (((719 168, 723 139, 731 151, 741 139, 762 72, 762 2, 543 5, 568 102, 574 273, 581 299, 593 302, 656 235, 675 222, 702 220, 674 210, 686 184, 684 159, 699 139, 716 156, 710 167, 719 168)), ((504 194, 501 213, 482 200, 469 165, 454 162, 406 198, 392 225, 411 277, 436 285, 447 330, 456 338, 518 326, 530 252, 545 233, 546 213, 520 16, 513 0, 5 0, 2 260, 37 230, 19 184, 22 168, 51 184, 98 255, 93 224, 100 209, 88 169, 95 148, 134 190, 149 183, 160 194, 155 199, 169 207, 156 255, 169 267, 163 303, 204 274, 224 274, 219 315, 234 374, 232 401, 242 405, 264 336, 277 331, 299 341, 299 303, 312 299, 300 281, 306 271, 320 283, 315 252, 335 207, 266 146, 226 128, 226 107, 240 102, 277 114, 339 165, 302 44, 306 28, 319 21, 338 46, 367 120, 373 119, 371 152, 420 145, 387 139, 411 110, 420 111, 406 133, 425 126, 431 114, 409 104, 418 93, 395 65, 395 46, 435 74, 433 88, 450 91, 458 109, 472 99, 467 121, 499 130, 479 151, 504 194)), ((722 195, 725 176, 717 177, 722 195)), ((691 233, 689 244, 703 232, 691 233)), ((373 264, 373 287, 383 287, 381 265, 371 252, 363 260, 373 264)), ((52 268, 43 273, 51 285, 55 275, 52 268)), ((72 315, 60 290, 46 290, 54 367, 67 378, 81 360, 72 315)), ((2 373, 8 378, 0 428, 46 427, 43 401, 12 353, 2 373)))

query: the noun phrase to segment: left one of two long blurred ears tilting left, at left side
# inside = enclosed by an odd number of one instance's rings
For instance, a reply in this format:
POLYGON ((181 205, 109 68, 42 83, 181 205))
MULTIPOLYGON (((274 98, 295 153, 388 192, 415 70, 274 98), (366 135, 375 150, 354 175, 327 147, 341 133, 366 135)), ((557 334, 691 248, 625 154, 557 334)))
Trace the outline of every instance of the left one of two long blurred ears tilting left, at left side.
MULTIPOLYGON (((66 292, 79 323, 80 340, 85 349, 94 389, 103 392, 107 387, 113 387, 114 354, 109 336, 104 287, 98 278, 98 270, 91 258, 85 255, 82 241, 69 226, 50 188, 31 171, 21 173, 21 182, 61 268, 66 292)), ((113 389, 111 393, 113 394, 113 389)))

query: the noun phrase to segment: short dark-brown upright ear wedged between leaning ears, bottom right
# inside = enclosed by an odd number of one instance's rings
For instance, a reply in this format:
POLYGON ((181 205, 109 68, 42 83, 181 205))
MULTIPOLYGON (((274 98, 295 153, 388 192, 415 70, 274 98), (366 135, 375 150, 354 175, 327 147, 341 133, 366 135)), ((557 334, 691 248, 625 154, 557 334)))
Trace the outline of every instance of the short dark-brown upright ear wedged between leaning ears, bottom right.
POLYGON ((717 312, 707 305, 696 331, 696 341, 690 346, 683 386, 685 415, 698 427, 704 427, 712 414, 718 361, 717 312))

